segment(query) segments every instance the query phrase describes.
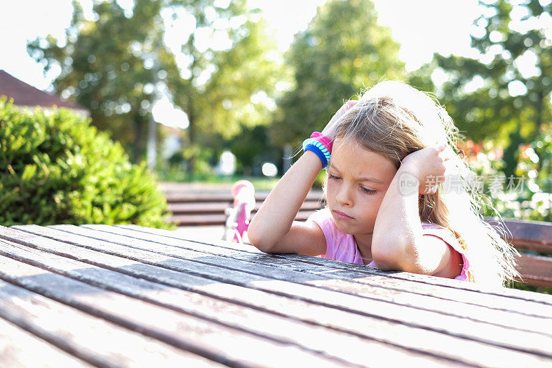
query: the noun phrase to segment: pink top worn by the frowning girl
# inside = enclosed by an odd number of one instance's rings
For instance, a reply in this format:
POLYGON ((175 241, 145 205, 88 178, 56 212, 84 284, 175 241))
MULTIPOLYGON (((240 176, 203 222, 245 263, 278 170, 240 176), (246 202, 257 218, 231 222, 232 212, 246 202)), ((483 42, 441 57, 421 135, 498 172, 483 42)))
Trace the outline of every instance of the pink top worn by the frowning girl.
MULTIPOLYGON (((322 209, 316 213, 313 213, 313 215, 308 217, 308 220, 314 221, 320 229, 322 229, 324 237, 326 238, 326 254, 320 255, 322 258, 364 264, 364 262, 362 262, 360 251, 357 248, 355 238, 353 235, 342 233, 337 229, 328 209, 322 209)), ((442 241, 446 242, 446 244, 449 244, 455 251, 460 253, 460 255, 462 255, 462 260, 464 261, 462 272, 455 278, 455 280, 469 280, 470 263, 466 258, 466 250, 462 248, 453 233, 442 228, 441 226, 427 224, 425 222, 422 222, 422 229, 424 235, 440 238, 442 241)), ((373 261, 368 264, 368 266, 376 267, 373 261)))

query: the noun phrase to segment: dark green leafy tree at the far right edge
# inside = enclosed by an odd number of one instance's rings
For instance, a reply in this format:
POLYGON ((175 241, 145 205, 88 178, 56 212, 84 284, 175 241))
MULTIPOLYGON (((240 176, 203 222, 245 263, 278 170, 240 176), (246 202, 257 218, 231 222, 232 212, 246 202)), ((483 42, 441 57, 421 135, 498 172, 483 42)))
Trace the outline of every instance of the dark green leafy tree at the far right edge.
POLYGON ((467 137, 507 146, 506 175, 515 171, 520 144, 533 141, 551 118, 552 6, 544 3, 480 1, 471 35, 480 57, 435 55, 449 75, 437 92, 449 114, 467 137))

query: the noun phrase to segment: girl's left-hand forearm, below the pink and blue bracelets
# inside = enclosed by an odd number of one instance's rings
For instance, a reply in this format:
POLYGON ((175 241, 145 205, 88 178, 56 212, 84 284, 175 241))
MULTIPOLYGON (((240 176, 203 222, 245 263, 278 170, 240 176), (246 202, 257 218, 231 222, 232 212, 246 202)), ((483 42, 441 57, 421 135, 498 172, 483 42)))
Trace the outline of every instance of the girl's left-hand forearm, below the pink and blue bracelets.
POLYGON ((290 231, 308 191, 322 170, 315 153, 306 151, 284 174, 249 224, 248 238, 258 249, 270 252, 290 231))

